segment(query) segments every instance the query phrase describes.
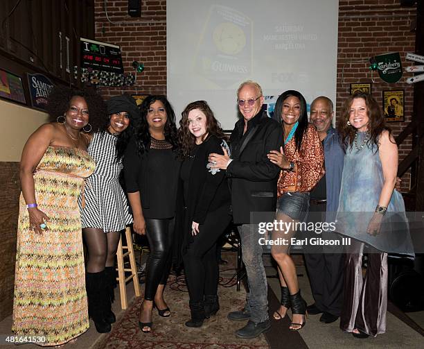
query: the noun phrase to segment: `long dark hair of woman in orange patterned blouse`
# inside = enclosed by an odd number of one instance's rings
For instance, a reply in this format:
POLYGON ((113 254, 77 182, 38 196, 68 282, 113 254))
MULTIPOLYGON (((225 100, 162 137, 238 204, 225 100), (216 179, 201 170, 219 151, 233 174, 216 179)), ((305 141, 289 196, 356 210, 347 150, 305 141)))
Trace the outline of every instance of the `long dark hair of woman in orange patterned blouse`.
POLYGON ((283 129, 284 134, 284 127, 283 127, 283 118, 281 117, 281 112, 283 111, 283 103, 288 97, 297 97, 300 101, 301 110, 299 114, 299 119, 297 120, 299 124, 297 125, 297 129, 294 132, 294 143, 296 144, 296 148, 298 151, 300 151, 303 135, 306 133, 306 129, 308 128, 308 112, 306 107, 306 100, 303 95, 295 90, 287 90, 283 92, 279 99, 277 99, 275 103, 275 110, 273 119, 276 121, 279 121, 279 124, 281 125, 281 128, 283 129))

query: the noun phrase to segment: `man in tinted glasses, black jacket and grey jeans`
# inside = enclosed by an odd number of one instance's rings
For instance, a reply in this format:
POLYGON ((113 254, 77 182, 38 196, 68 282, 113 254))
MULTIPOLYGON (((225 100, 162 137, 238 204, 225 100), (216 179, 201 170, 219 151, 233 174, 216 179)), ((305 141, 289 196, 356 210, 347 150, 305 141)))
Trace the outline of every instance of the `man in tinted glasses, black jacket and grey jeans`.
POLYGON ((275 212, 276 182, 281 169, 267 154, 283 145, 279 124, 262 111, 262 89, 254 81, 238 87, 237 103, 242 118, 231 133, 231 158, 212 153, 209 160, 216 168, 226 169, 231 182, 233 223, 240 232, 242 259, 245 263, 249 293, 245 308, 229 313, 230 320, 249 320, 236 331, 238 337, 254 338, 271 327, 267 306, 267 279, 259 244, 258 226, 251 222, 251 212, 275 212))

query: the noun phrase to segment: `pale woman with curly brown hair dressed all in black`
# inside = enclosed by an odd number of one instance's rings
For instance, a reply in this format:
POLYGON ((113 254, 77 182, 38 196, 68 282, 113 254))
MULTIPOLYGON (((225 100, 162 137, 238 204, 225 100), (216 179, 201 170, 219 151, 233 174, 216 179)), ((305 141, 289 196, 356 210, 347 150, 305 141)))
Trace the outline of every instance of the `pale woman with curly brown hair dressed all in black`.
POLYGON ((220 307, 216 241, 231 221, 225 171, 209 169, 208 156, 223 154, 222 146, 227 143, 205 101, 187 105, 179 124, 186 206, 182 255, 191 309, 191 320, 186 326, 200 327, 204 318, 215 315, 220 307))

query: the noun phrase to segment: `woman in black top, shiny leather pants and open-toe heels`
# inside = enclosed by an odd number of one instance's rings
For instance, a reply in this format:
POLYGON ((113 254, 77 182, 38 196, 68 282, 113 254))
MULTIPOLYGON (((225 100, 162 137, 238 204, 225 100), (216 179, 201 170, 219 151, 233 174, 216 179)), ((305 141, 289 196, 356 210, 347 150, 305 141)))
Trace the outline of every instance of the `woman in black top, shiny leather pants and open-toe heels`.
POLYGON ((150 332, 153 307, 160 316, 170 316, 164 287, 171 265, 180 162, 175 113, 166 97, 148 96, 140 109, 139 129, 127 147, 124 171, 133 229, 147 235, 150 245, 139 317, 141 330, 150 332))

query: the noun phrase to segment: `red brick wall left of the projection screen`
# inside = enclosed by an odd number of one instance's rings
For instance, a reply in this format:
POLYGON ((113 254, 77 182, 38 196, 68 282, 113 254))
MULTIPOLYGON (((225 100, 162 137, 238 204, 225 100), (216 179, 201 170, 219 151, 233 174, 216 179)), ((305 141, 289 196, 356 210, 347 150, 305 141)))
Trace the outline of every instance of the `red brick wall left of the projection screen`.
POLYGON ((125 74, 134 72, 134 60, 145 65, 136 85, 102 87, 106 99, 123 92, 166 94, 166 0, 143 0, 141 5, 141 17, 133 18, 128 1, 95 0, 96 40, 121 46, 125 74))

